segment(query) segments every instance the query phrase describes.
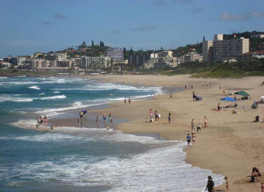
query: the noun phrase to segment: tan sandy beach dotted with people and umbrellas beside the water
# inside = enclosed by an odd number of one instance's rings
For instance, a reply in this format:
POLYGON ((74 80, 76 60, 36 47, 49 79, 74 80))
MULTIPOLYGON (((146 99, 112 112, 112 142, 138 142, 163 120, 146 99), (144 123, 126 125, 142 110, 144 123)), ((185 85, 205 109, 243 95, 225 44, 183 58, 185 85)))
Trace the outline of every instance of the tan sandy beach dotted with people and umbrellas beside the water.
MULTIPOLYGON (((110 107, 104 109, 88 109, 88 111, 98 115, 101 122, 103 121, 103 112, 106 115, 111 112, 113 120, 115 118, 129 119, 127 122, 116 125, 116 129, 122 130, 123 133, 155 133, 168 140, 178 141, 185 141, 187 134, 191 134, 192 119, 195 120, 195 127, 198 123, 204 127, 204 117, 206 116, 208 128, 202 128, 203 133, 196 134, 195 146, 184 149, 187 152, 186 162, 227 176, 230 180, 229 189, 232 192, 261 190, 260 182, 247 183, 246 181, 250 180, 252 167, 258 167, 261 173, 264 173, 264 123, 252 123, 256 115, 259 115, 260 121, 263 122, 264 104, 259 104, 257 109, 250 109, 254 100, 260 100, 264 95, 264 86, 261 86, 264 81, 263 77, 194 79, 190 75, 106 75, 85 78, 125 85, 162 87, 184 87, 186 85, 189 88, 193 86, 193 89, 174 93, 172 99, 170 99, 170 94, 158 95, 156 99, 153 97, 147 100, 132 100, 131 104, 116 102, 109 104, 110 107), (220 106, 232 103, 219 101, 223 97, 223 90, 226 94, 244 90, 251 95, 252 99, 238 100, 238 108, 224 108, 219 112, 211 110, 217 107, 219 102, 220 106), (197 96, 202 96, 203 100, 193 101, 193 91, 197 96), (243 109, 242 106, 246 106, 246 108, 243 109), (158 110, 161 114, 157 122, 145 122, 146 119, 150 119, 150 108, 153 111, 158 110), (232 114, 232 110, 238 114, 232 114), (171 124, 168 124, 168 113, 171 113, 171 124)), ((237 96, 237 98, 240 97, 237 96)), ((78 114, 76 114, 76 118, 78 118, 78 114)), ((53 125, 74 126, 77 124, 76 118, 63 120, 63 124, 59 119, 53 120, 53 125)), ((194 132, 196 133, 196 131, 194 132)), ((190 182, 191 180, 192 178, 190 178, 190 182)), ((264 181, 263 178, 262 181, 264 181)), ((225 184, 217 186, 215 191, 217 190, 225 191, 225 184)))

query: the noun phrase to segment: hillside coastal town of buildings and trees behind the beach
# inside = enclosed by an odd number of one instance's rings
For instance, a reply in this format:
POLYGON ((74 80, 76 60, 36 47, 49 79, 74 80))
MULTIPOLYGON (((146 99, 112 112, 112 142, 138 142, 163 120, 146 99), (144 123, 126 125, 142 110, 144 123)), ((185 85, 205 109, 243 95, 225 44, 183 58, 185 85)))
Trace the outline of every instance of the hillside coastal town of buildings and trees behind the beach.
MULTIPOLYGON (((257 32, 255 32, 257 33, 257 32)), ((255 34, 252 33, 252 34, 255 34)), ((261 33, 261 32, 258 32, 261 33)), ((199 62, 208 63, 232 63, 238 60, 250 60, 252 58, 264 58, 264 33, 252 35, 252 40, 263 42, 258 49, 250 48, 250 39, 237 37, 224 39, 223 34, 216 34, 212 41, 206 41, 194 45, 193 48, 185 50, 148 50, 129 51, 126 48, 105 47, 104 42, 100 45, 87 46, 85 42, 78 48, 67 48, 56 52, 35 52, 34 55, 11 56, 0 59, 0 69, 14 70, 75 70, 79 74, 91 74, 98 72, 125 71, 164 71, 172 70, 183 63, 199 62), (98 56, 86 56, 95 54, 95 49, 101 48, 105 51, 97 51, 98 56), (199 50, 197 50, 197 48, 199 50), (250 51, 253 49, 254 51, 250 51), (78 54, 82 54, 78 55, 78 54)), ((77 47, 77 46, 76 46, 77 47)), ((186 48, 186 47, 185 47, 186 48)), ((100 49, 100 50, 101 50, 100 49)))

